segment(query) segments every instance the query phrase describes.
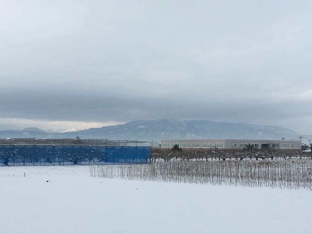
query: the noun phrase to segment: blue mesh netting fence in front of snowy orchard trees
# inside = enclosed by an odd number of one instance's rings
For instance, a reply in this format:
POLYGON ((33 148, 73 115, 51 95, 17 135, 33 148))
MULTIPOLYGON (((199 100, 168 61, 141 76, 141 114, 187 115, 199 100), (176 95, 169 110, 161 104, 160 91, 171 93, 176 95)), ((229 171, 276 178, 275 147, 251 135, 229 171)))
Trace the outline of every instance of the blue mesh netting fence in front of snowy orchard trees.
POLYGON ((0 145, 2 166, 150 162, 150 146, 0 145))

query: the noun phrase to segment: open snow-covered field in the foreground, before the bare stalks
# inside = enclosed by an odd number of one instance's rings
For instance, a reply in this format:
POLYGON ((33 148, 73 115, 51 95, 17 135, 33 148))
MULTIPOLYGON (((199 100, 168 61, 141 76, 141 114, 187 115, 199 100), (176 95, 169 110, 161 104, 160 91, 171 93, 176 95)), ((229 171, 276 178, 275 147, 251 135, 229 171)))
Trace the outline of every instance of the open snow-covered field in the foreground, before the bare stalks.
POLYGON ((311 198, 305 189, 92 178, 88 166, 0 167, 0 233, 310 233, 311 198))

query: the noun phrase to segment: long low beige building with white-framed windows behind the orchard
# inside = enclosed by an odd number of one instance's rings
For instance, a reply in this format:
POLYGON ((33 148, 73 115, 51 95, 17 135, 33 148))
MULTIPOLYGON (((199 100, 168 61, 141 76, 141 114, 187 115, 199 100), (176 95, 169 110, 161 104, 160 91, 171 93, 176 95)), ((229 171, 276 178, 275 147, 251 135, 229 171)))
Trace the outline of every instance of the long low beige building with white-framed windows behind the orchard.
POLYGON ((261 149, 301 149, 299 140, 246 140, 246 139, 192 139, 192 140, 161 140, 162 148, 228 148, 242 149, 251 144, 261 149))

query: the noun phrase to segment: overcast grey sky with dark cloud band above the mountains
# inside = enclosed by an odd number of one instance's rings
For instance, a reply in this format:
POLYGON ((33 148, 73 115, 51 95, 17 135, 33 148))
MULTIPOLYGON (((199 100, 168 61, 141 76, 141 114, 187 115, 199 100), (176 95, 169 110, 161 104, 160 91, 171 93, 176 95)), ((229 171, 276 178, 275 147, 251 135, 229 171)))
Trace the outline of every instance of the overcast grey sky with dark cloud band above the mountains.
POLYGON ((311 1, 6 1, 0 129, 198 119, 312 131, 311 1))

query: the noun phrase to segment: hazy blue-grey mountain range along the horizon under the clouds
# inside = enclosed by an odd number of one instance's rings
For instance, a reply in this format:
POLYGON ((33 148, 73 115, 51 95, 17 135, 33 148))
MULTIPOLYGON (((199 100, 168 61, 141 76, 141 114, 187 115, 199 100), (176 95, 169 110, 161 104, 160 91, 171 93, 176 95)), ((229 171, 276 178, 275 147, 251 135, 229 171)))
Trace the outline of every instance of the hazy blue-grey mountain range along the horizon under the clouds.
MULTIPOLYGON (((76 130, 76 129, 75 129, 76 130)), ((246 123, 214 122, 206 120, 138 120, 126 124, 90 128, 79 131, 53 132, 38 128, 0 131, 0 138, 75 138, 111 140, 160 139, 298 139, 300 134, 277 126, 246 123)), ((307 136, 311 137, 311 136, 307 136)))

